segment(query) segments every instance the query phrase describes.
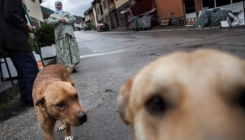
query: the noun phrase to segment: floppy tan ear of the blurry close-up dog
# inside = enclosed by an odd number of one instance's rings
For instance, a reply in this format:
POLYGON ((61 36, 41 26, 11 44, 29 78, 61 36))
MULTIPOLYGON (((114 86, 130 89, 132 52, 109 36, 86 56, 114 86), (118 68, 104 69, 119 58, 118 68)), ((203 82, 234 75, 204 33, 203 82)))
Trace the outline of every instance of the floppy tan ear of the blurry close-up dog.
POLYGON ((121 87, 119 96, 117 98, 118 111, 125 124, 132 123, 132 114, 130 109, 128 108, 132 84, 133 78, 128 79, 126 83, 121 87))

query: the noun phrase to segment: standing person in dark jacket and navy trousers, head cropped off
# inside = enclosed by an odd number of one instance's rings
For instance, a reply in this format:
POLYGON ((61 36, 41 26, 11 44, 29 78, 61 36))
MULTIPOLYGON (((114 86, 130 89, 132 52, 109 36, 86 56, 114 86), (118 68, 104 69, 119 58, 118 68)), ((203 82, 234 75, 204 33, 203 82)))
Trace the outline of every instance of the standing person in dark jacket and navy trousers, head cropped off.
POLYGON ((32 27, 27 25, 23 0, 0 0, 0 47, 4 47, 17 73, 22 105, 33 106, 32 86, 38 66, 28 42, 32 27))

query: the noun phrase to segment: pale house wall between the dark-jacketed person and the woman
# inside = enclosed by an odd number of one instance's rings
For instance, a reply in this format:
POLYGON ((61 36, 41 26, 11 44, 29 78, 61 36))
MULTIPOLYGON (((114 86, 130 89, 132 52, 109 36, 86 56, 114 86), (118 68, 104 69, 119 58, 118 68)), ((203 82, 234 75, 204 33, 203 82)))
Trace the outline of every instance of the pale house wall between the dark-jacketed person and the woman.
MULTIPOLYGON (((41 11, 41 0, 23 0, 26 5, 26 10, 31 18, 33 26, 40 27, 41 23, 44 22, 41 11)), ((30 24, 30 23, 28 23, 30 24)))

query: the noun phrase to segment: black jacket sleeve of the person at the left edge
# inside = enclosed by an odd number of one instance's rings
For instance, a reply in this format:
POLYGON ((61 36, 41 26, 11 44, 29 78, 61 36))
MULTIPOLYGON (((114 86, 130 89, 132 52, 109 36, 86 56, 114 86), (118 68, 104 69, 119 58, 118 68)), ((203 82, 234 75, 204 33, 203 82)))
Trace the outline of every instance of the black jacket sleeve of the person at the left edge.
POLYGON ((21 4, 21 0, 4 0, 3 15, 6 21, 10 22, 18 29, 28 33, 29 27, 26 21, 20 16, 23 14, 21 4))

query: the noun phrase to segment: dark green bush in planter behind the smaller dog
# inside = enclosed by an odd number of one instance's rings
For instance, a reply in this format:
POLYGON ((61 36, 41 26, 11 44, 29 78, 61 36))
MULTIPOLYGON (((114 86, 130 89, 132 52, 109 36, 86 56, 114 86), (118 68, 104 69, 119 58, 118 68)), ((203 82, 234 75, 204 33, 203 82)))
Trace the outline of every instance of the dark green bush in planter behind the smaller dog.
POLYGON ((44 22, 41 27, 36 29, 36 35, 40 47, 55 44, 54 26, 47 24, 47 22, 44 22))

